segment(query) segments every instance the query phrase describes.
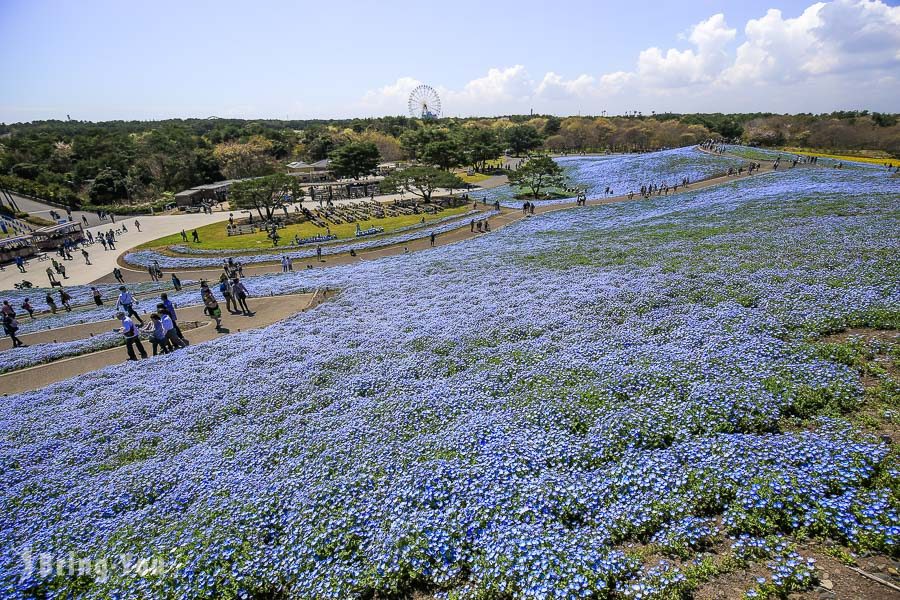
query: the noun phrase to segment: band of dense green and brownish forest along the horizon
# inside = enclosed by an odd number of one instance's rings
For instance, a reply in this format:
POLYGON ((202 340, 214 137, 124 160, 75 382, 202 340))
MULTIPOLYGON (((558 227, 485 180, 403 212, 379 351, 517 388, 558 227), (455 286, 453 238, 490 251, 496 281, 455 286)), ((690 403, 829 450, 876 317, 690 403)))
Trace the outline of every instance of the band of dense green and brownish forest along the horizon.
POLYGON ((283 172, 295 160, 346 160, 374 149, 382 161, 484 170, 506 151, 643 152, 709 138, 900 157, 898 115, 868 111, 37 121, 0 124, 0 187, 67 205, 146 205, 204 183, 283 172))

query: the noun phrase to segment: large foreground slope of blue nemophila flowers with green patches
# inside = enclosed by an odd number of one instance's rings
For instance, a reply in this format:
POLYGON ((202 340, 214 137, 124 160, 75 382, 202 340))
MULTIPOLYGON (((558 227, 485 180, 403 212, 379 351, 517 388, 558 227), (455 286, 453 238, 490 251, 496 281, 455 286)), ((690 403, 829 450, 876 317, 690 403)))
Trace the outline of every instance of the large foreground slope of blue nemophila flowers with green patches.
POLYGON ((768 539, 896 551, 858 374, 807 342, 896 326, 897 200, 795 169, 253 278, 341 293, 6 399, 3 596, 647 598, 713 540, 784 589, 810 574, 768 539), (22 578, 24 549, 169 568, 22 578))

